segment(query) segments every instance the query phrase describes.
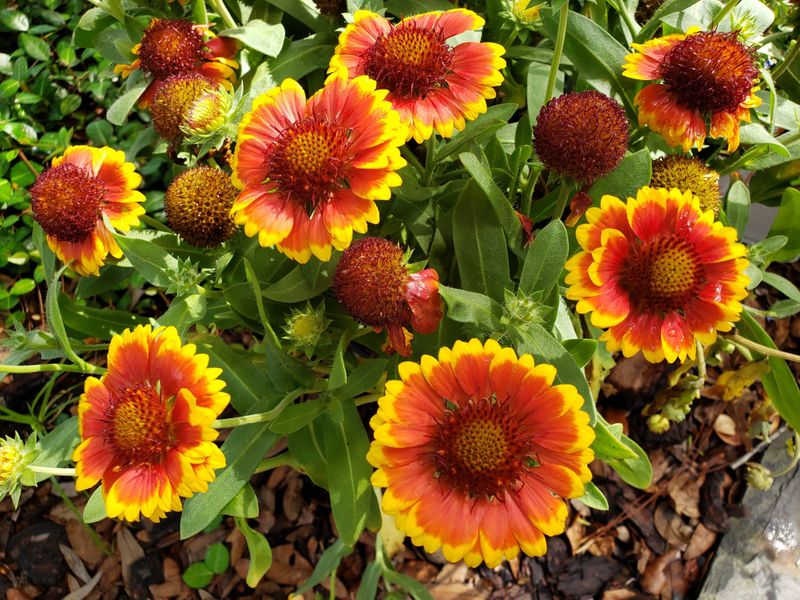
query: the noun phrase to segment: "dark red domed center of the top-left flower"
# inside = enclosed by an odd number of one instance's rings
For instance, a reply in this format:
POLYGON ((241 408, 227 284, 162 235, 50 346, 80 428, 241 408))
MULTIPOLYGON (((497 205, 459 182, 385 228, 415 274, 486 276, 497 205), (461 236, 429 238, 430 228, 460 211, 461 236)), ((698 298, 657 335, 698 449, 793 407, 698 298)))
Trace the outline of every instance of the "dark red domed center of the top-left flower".
POLYGON ((157 79, 192 71, 203 57, 203 36, 185 19, 153 19, 142 36, 142 69, 157 79))

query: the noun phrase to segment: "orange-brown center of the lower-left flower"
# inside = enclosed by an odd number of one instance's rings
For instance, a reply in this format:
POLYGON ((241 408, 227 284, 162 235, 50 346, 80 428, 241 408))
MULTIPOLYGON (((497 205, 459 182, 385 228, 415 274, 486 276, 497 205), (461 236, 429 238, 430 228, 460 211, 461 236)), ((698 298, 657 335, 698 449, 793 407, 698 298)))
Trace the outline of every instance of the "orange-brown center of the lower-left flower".
POLYGON ((105 441, 123 464, 155 464, 175 443, 167 422, 166 403, 150 386, 113 393, 105 418, 105 441))

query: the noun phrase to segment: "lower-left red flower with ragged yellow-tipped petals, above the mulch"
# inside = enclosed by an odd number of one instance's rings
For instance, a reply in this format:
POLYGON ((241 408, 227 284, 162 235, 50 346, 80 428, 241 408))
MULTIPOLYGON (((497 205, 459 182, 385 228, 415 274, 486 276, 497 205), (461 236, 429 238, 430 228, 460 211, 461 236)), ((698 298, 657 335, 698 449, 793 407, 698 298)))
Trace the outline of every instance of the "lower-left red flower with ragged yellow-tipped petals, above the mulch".
POLYGON ((78 404, 75 488, 102 481, 108 516, 125 521, 159 521, 205 492, 225 466, 211 428, 230 400, 221 373, 174 327, 115 335, 108 373, 86 380, 78 404))

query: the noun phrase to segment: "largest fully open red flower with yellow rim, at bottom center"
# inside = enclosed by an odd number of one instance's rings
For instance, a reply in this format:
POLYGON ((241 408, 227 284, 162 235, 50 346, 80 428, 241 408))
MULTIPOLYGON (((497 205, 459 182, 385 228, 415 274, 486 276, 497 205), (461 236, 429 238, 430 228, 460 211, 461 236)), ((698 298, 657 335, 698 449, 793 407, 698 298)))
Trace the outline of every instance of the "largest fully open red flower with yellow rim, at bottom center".
POLYGON ((545 535, 564 531, 563 498, 591 480, 594 431, 577 390, 494 340, 398 372, 370 421, 384 512, 418 546, 471 567, 543 555, 545 535))

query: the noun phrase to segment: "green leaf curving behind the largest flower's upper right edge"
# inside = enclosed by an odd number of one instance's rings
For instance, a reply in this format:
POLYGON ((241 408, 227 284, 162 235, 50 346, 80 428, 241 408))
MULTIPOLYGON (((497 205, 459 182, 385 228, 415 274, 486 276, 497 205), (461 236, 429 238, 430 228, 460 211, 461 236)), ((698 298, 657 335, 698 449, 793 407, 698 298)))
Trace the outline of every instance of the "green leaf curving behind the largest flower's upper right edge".
POLYGON ((517 345, 519 354, 530 353, 536 362, 553 365, 557 369, 556 381, 574 385, 583 397, 583 410, 589 415, 589 423, 594 425, 597 421, 597 409, 594 406, 592 390, 583 370, 553 335, 538 323, 526 326, 525 331, 516 328, 515 333, 520 342, 517 345))

